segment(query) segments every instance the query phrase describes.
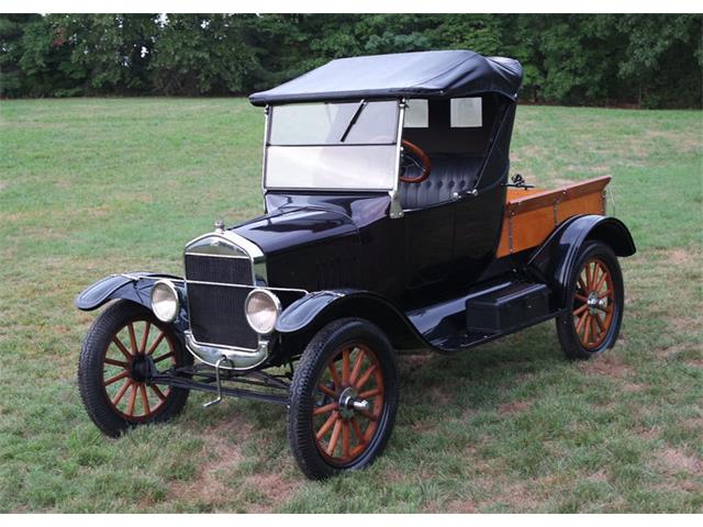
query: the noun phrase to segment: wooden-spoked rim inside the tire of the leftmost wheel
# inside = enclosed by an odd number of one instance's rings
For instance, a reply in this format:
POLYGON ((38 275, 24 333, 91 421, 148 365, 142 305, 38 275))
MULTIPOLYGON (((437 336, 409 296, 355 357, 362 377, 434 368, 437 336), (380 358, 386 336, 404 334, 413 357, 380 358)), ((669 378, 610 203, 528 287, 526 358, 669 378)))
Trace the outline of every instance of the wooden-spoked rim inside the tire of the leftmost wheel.
POLYGON ((105 349, 102 385, 109 404, 125 419, 143 422, 159 413, 171 392, 145 381, 149 361, 158 370, 176 365, 172 337, 148 319, 119 328, 105 349))

